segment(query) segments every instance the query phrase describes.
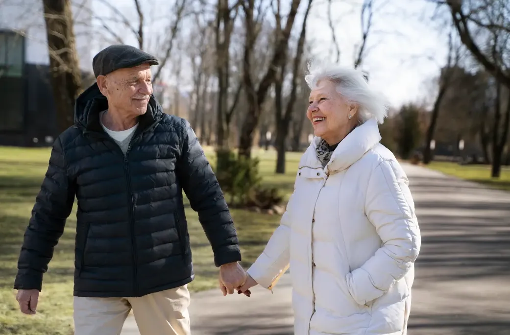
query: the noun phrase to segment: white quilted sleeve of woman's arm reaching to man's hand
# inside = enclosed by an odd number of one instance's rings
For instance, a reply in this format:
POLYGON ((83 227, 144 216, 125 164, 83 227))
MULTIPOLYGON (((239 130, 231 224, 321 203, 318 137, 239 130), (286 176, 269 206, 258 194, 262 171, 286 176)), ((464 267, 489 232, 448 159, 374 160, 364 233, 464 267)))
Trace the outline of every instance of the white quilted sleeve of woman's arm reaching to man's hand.
POLYGON ((287 204, 287 210, 282 216, 280 225, 274 231, 264 251, 257 258, 257 261, 255 261, 247 271, 257 284, 269 290, 272 289, 279 277, 284 274, 289 267, 289 243, 291 233, 289 209, 291 208, 291 202, 292 195, 287 204))

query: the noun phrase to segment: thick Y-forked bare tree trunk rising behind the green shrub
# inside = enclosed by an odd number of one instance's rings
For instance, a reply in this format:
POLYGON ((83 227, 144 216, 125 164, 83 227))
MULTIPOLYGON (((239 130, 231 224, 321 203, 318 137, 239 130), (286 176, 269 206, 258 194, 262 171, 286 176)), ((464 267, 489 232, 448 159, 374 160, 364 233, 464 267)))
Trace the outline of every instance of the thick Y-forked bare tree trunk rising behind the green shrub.
MULTIPOLYGON (((292 0, 289 15, 285 28, 277 31, 277 36, 274 44, 274 54, 270 61, 268 68, 262 78, 262 81, 257 86, 254 83, 251 73, 251 56, 252 49, 256 42, 256 21, 254 20, 254 0, 247 0, 243 4, 245 14, 245 29, 246 41, 244 47, 244 64, 243 64, 243 81, 246 100, 248 105, 248 113, 244 119, 241 127, 241 135, 239 138, 239 154, 240 156, 250 157, 251 147, 253 142, 253 132, 255 131, 260 118, 261 106, 264 102, 266 94, 273 84, 276 77, 276 69, 282 59, 286 59, 287 49, 289 45, 289 38, 291 35, 294 19, 296 17, 297 9, 300 0, 292 0)), ((260 13, 260 11, 259 11, 260 13)))

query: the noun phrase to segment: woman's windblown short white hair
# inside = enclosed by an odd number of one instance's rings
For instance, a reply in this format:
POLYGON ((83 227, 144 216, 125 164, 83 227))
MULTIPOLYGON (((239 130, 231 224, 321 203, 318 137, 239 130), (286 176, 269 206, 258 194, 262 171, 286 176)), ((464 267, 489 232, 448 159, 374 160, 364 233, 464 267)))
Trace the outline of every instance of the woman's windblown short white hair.
POLYGON ((310 89, 314 89, 322 80, 336 84, 338 93, 348 102, 358 105, 360 123, 371 118, 382 123, 388 116, 386 98, 370 88, 365 73, 360 70, 328 62, 310 61, 304 80, 310 89))

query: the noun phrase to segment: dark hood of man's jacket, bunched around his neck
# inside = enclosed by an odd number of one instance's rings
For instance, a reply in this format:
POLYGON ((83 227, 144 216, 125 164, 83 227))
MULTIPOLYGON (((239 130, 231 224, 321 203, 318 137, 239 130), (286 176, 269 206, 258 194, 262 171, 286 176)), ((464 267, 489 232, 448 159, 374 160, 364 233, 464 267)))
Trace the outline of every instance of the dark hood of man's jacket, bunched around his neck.
MULTIPOLYGON (((82 125, 87 130, 101 132, 99 113, 108 109, 108 100, 97 83, 92 84, 78 98, 74 105, 74 123, 82 125)), ((154 95, 150 95, 147 112, 140 116, 141 129, 159 121, 163 116, 163 109, 154 95)))

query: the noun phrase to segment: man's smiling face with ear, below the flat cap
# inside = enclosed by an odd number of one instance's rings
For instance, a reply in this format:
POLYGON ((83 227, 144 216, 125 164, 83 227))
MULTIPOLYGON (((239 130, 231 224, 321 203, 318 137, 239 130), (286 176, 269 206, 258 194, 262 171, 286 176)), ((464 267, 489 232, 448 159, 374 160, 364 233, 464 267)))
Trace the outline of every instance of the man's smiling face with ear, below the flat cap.
POLYGON ((152 94, 150 65, 115 70, 97 77, 99 90, 108 99, 109 109, 125 117, 145 114, 152 94))

